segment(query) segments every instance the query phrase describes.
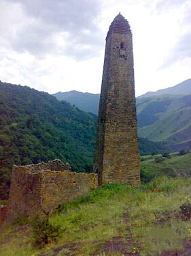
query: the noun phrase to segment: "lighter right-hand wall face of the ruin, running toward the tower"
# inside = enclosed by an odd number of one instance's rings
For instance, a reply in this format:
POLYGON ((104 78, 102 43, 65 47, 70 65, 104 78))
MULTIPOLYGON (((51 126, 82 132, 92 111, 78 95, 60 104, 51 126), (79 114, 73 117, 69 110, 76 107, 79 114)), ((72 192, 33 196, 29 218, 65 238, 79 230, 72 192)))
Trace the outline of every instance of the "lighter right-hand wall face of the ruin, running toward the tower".
POLYGON ((45 171, 41 178, 41 208, 45 212, 86 195, 97 187, 97 175, 94 173, 45 171))

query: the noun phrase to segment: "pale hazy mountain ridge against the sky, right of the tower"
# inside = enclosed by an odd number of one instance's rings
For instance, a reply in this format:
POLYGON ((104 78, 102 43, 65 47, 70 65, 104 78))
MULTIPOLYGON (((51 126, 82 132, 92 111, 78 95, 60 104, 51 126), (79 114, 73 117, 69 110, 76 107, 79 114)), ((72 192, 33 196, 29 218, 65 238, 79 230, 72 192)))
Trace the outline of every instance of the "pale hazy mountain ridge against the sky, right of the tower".
POLYGON ((146 94, 139 96, 138 98, 160 96, 164 94, 170 95, 190 95, 191 94, 191 79, 188 79, 182 83, 179 83, 173 87, 166 89, 160 89, 158 91, 148 91, 146 94))

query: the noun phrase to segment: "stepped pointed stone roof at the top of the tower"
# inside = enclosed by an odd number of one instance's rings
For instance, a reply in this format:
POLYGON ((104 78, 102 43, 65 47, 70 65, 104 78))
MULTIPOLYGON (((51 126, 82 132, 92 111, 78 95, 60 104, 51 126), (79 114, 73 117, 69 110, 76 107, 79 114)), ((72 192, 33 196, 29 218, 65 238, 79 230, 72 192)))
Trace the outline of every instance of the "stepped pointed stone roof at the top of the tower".
POLYGON ((107 32, 107 37, 111 33, 130 33, 131 34, 131 27, 128 24, 128 21, 124 18, 124 16, 122 16, 121 12, 119 12, 119 14, 112 21, 109 27, 109 31, 107 32))

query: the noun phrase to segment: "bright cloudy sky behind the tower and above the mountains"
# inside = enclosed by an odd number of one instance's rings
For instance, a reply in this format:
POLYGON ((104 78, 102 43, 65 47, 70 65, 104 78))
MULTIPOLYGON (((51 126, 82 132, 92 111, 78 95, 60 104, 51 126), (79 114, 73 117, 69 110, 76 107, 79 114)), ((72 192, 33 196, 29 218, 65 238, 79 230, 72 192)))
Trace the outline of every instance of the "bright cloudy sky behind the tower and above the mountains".
POLYGON ((118 12, 133 31, 137 96, 191 78, 191 0, 0 0, 0 80, 99 93, 118 12))

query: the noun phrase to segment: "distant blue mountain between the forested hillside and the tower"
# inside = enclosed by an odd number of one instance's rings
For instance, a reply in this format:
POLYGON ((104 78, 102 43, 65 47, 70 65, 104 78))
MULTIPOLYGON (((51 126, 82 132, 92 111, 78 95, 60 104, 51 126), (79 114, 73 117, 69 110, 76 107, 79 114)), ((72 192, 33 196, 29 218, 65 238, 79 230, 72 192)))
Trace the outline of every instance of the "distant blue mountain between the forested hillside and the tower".
POLYGON ((67 91, 53 94, 58 100, 65 100, 72 105, 77 106, 86 112, 97 115, 99 109, 99 94, 90 94, 88 92, 67 91))

